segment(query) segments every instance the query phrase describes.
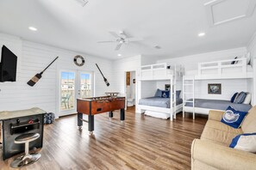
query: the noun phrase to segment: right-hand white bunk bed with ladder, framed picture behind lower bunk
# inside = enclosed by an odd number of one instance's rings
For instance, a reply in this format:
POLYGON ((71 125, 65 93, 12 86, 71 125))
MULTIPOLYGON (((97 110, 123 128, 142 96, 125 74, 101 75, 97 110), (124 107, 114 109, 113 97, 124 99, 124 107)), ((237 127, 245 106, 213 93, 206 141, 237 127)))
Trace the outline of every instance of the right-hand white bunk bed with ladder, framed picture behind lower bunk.
POLYGON ((249 104, 235 104, 230 100, 195 99, 195 81, 252 78, 253 68, 247 64, 247 58, 199 63, 197 70, 186 71, 183 77, 183 117, 184 112, 193 112, 195 118, 195 112, 208 114, 211 109, 223 111, 228 106, 247 112, 252 107, 249 104))

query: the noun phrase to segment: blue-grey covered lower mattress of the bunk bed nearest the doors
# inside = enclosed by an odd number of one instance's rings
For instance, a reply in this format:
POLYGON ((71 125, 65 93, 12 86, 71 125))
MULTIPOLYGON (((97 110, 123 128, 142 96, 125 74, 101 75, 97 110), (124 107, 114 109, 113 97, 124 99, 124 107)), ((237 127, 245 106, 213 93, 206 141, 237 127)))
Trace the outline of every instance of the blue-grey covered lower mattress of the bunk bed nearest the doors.
MULTIPOLYGON (((182 104, 182 99, 176 99, 176 106, 182 104)), ((162 98, 162 97, 148 97, 139 100, 139 105, 145 106, 159 106, 170 108, 170 98, 162 98)))

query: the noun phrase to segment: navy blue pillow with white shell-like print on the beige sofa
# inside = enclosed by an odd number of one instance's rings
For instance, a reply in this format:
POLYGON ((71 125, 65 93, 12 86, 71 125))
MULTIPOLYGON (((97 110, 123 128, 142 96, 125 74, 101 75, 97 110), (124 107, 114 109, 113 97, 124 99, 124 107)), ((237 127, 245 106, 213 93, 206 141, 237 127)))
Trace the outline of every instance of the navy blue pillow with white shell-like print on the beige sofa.
POLYGON ((221 122, 223 124, 228 124, 229 126, 234 127, 235 129, 238 129, 246 115, 247 112, 236 111, 231 106, 228 106, 221 122))

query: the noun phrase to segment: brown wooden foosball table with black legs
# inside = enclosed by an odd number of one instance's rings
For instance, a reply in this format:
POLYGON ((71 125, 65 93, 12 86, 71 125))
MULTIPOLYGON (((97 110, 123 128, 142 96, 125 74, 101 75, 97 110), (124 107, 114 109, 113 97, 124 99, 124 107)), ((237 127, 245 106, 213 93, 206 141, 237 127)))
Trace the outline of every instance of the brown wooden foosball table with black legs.
POLYGON ((113 118, 113 111, 120 110, 120 120, 125 119, 125 97, 101 96, 77 99, 78 128, 83 127, 83 122, 88 123, 90 135, 94 131, 94 115, 109 112, 109 118, 113 118), (88 120, 83 119, 83 114, 88 115, 88 120))

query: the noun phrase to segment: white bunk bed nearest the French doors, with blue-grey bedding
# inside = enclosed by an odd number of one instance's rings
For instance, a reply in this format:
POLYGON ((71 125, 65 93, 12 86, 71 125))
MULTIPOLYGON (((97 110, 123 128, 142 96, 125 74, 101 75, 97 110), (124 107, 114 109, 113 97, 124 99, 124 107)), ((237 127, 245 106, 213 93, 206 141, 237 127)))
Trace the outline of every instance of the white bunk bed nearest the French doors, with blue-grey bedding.
MULTIPOLYGON (((175 65, 173 68, 164 64, 151 64, 140 67, 140 75, 138 81, 138 109, 140 112, 144 112, 145 115, 149 115, 155 118, 176 118, 176 113, 182 111, 182 100, 179 99, 180 91, 177 90, 177 82, 182 83, 182 76, 184 75, 184 69, 180 65, 175 65), (142 82, 161 82, 165 81, 170 84, 169 97, 163 98, 161 95, 147 96, 142 94, 141 83, 142 82), (177 92, 179 93, 177 95, 177 92)), ((149 91, 155 92, 154 89, 149 91)), ((158 89, 159 90, 159 89, 158 89)))

